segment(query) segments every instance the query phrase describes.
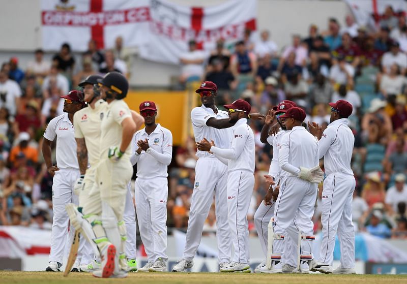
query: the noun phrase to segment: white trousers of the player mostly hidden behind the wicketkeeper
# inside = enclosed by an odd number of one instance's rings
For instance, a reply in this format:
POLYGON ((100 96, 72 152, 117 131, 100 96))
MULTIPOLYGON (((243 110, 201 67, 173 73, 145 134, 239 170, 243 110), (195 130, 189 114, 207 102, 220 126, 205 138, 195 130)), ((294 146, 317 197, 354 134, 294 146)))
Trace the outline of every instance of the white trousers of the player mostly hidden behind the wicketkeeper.
MULTIPOLYGON (((267 240, 269 236, 269 222, 274 216, 274 205, 265 205, 262 201, 258 206, 256 213, 254 213, 254 226, 256 227, 258 240, 260 241, 261 249, 265 257, 267 258, 267 240)), ((287 229, 287 237, 284 248, 284 259, 283 263, 288 263, 290 265, 296 266, 297 263, 297 238, 298 229, 294 226, 294 222, 287 229)), ((284 235, 285 236, 285 235, 284 235)))

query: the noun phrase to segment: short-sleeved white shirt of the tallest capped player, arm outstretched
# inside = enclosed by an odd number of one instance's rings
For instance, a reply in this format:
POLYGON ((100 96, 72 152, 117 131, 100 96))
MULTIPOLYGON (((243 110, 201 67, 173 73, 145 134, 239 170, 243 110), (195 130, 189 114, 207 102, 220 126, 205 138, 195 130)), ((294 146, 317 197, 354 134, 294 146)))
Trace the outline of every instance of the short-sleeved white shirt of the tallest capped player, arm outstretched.
MULTIPOLYGON (((230 139, 232 137, 233 130, 231 127, 226 129, 216 129, 209 127, 207 121, 210 118, 222 119, 228 118, 229 114, 226 111, 218 110, 215 114, 213 109, 207 108, 204 105, 196 107, 191 111, 192 129, 194 131, 195 142, 201 141, 203 138, 211 139, 215 142, 215 146, 227 149, 230 147, 230 139)), ((197 157, 215 157, 215 155, 208 152, 197 151, 197 157)))

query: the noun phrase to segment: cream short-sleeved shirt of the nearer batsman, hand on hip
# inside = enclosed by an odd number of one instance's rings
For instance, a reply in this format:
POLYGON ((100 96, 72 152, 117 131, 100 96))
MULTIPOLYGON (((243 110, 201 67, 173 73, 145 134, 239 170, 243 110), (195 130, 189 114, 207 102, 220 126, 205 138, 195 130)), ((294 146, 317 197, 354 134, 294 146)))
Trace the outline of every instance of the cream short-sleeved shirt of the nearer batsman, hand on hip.
MULTIPOLYGON (((118 146, 122 143, 122 122, 126 118, 131 118, 131 112, 123 100, 114 100, 101 112, 101 134, 100 134, 100 158, 107 159, 111 146, 118 146)), ((125 156, 130 159, 131 145, 127 147, 125 156)), ((122 158, 123 159, 123 158, 122 158)))

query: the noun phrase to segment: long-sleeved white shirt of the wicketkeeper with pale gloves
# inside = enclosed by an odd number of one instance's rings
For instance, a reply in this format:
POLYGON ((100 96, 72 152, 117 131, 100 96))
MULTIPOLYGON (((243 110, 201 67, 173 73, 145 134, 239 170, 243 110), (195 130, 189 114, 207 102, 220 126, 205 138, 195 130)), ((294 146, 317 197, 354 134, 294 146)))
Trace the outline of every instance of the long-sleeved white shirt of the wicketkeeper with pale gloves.
POLYGON ((281 176, 299 176, 300 167, 313 168, 319 162, 318 141, 302 126, 296 126, 281 139, 278 163, 281 176))

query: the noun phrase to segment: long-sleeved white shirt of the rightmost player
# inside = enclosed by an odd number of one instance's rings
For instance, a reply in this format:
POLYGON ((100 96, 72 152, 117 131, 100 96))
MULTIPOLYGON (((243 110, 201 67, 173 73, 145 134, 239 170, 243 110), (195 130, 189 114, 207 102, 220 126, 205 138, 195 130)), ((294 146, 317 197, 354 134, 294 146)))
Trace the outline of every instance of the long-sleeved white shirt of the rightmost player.
POLYGON ((341 118, 328 125, 318 142, 319 159, 324 157, 325 173, 353 175, 351 159, 355 136, 347 126, 347 118, 341 118))

